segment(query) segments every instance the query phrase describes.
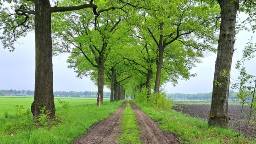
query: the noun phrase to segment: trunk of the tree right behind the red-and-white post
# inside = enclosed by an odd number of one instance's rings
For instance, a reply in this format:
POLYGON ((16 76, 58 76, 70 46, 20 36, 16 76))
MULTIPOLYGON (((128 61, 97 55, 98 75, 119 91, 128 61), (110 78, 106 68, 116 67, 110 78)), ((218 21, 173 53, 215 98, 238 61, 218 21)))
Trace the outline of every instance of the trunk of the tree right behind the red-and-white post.
POLYGON ((97 97, 97 105, 99 105, 99 95, 100 95, 100 102, 103 104, 103 88, 104 88, 104 63, 98 63, 98 97, 97 97))

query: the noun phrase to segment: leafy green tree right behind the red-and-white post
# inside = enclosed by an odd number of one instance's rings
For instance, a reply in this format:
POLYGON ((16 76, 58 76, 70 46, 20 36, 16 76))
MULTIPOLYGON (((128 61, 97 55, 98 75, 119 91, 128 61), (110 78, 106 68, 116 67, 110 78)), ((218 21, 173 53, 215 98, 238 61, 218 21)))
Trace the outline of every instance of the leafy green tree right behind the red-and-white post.
POLYGON ((59 19, 54 22, 54 32, 56 40, 62 41, 56 42, 55 50, 60 53, 72 53, 68 63, 69 67, 78 73, 78 77, 97 71, 97 103, 99 105, 99 95, 103 103, 105 62, 111 49, 122 44, 122 35, 125 35, 124 29, 121 28, 124 27, 121 22, 123 16, 118 11, 109 11, 95 20, 90 12, 80 10, 76 13, 63 13, 57 17, 59 19), (60 23, 62 17, 68 18, 60 23), (94 29, 91 29, 92 27, 94 29))

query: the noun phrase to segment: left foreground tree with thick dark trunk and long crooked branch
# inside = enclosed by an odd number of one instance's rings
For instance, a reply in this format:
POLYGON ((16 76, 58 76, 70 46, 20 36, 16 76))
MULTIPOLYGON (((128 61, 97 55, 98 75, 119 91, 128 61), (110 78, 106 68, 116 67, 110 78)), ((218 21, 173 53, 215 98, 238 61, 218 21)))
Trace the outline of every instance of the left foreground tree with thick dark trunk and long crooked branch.
POLYGON ((56 6, 51 7, 50 0, 3 0, 3 2, 0 2, 0 30, 3 29, 3 35, 0 39, 4 48, 13 51, 13 45, 17 38, 35 30, 35 96, 31 105, 31 112, 34 117, 37 117, 41 113, 41 107, 46 106, 52 119, 55 117, 55 105, 53 100, 51 13, 93 8, 93 13, 99 16, 101 12, 117 7, 111 6, 97 11, 97 6, 93 4, 93 0, 90 0, 89 4, 78 6, 76 5, 80 1, 73 1, 71 5, 63 7, 58 6, 58 1, 55 2, 56 6), (14 7, 5 8, 2 6, 3 2, 14 4, 14 7))

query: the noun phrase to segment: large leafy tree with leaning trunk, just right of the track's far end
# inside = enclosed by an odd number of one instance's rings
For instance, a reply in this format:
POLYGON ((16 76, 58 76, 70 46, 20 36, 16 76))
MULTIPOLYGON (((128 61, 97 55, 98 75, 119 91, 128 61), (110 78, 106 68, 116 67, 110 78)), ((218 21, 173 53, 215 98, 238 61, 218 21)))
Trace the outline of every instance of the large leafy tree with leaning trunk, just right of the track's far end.
POLYGON ((158 93, 164 60, 173 56, 166 54, 167 51, 175 51, 176 46, 180 45, 182 49, 195 53, 194 56, 190 55, 191 57, 202 57, 203 51, 215 51, 214 31, 218 24, 219 11, 217 7, 210 7, 206 3, 186 0, 175 3, 159 1, 154 6, 163 10, 143 10, 137 13, 138 16, 133 21, 138 22, 137 26, 140 27, 139 36, 150 37, 152 42, 148 43, 156 45, 157 70, 154 91, 158 93))

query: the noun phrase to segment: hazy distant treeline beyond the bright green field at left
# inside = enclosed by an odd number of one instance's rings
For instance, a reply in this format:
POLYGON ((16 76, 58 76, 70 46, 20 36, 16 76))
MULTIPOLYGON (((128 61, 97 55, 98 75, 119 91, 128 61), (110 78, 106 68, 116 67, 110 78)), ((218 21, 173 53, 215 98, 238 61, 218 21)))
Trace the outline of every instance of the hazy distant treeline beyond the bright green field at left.
MULTIPOLYGON (((97 97, 97 92, 90 91, 55 91, 53 92, 55 97, 97 97)), ((34 96, 32 90, 0 90, 2 96, 34 96)), ((110 92, 104 92, 104 97, 110 97, 110 92)))

